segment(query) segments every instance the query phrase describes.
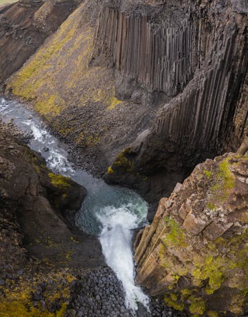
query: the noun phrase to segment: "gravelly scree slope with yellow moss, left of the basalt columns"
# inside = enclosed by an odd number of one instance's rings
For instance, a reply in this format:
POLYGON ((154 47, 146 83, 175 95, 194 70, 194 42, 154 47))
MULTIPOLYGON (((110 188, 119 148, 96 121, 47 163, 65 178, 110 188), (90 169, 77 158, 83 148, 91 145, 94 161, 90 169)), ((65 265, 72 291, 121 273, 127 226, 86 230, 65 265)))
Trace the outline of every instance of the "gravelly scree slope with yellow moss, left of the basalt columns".
POLYGON ((8 81, 8 89, 33 100, 54 131, 80 150, 80 163, 103 173, 155 111, 150 104, 115 97, 114 71, 106 58, 94 66, 98 4, 86 1, 71 14, 8 81))

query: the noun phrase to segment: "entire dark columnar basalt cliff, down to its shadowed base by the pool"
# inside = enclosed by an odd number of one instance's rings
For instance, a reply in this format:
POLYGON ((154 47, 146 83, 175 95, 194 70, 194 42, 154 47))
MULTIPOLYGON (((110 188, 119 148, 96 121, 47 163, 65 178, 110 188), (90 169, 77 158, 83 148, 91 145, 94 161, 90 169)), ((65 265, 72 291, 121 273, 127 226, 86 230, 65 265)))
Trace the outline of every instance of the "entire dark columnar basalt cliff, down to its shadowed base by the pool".
POLYGON ((145 195, 158 182, 167 193, 164 178, 183 179, 201 159, 236 150, 248 127, 247 4, 159 4, 104 7, 95 41, 98 54, 112 56, 117 93, 129 80, 169 98, 105 176, 145 195))

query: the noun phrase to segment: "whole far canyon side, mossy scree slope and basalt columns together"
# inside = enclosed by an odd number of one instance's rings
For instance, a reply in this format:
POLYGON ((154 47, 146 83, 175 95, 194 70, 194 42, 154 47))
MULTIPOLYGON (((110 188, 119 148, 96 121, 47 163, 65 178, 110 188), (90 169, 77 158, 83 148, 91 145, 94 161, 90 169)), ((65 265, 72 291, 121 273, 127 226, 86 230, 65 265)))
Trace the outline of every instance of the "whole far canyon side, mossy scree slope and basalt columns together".
POLYGON ((8 91, 84 167, 155 201, 245 137, 247 25, 244 1, 87 0, 8 91))

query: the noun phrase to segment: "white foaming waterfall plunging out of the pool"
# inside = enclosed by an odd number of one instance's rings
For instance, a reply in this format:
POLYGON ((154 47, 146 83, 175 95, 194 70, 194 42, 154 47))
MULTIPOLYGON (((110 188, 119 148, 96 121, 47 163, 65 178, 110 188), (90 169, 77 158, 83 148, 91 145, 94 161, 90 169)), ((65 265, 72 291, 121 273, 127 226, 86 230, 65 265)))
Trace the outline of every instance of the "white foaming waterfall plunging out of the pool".
POLYGON ((129 205, 120 208, 104 207, 100 211, 98 218, 103 226, 100 243, 106 263, 122 281, 126 292, 126 307, 135 311, 139 302, 149 310, 148 296, 141 287, 135 285, 131 230, 137 228, 141 220, 130 210, 132 206, 129 205))

